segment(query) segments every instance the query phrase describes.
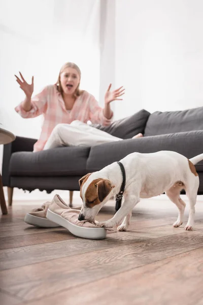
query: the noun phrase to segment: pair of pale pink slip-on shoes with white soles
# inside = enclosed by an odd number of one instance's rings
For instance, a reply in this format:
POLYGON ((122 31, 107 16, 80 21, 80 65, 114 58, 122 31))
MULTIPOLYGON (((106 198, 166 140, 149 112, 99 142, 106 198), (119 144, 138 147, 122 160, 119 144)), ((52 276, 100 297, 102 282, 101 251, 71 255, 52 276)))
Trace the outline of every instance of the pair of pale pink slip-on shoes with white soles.
POLYGON ((41 208, 33 209, 26 214, 24 221, 33 226, 43 228, 64 227, 72 234, 90 239, 106 238, 107 230, 97 227, 88 221, 79 221, 80 207, 71 208, 59 195, 55 195, 51 202, 45 202, 41 208))

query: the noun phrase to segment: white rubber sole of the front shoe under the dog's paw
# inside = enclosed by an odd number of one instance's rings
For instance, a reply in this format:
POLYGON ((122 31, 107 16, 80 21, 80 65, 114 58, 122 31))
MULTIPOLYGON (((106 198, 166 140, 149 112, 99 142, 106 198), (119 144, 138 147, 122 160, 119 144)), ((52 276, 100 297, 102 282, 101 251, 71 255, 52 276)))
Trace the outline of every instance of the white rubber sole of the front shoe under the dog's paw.
POLYGON ((60 215, 55 214, 50 209, 47 210, 47 218, 56 224, 66 228, 72 234, 89 239, 103 239, 107 236, 107 230, 104 228, 85 228, 72 224, 70 221, 62 218, 60 215))

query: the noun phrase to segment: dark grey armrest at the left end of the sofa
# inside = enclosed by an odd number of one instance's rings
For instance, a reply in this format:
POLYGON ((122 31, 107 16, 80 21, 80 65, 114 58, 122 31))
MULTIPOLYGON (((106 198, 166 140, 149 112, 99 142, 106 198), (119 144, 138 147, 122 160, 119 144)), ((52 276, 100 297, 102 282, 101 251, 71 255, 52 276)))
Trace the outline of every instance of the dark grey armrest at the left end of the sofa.
POLYGON ((36 139, 16 137, 16 139, 4 145, 4 154, 3 154, 3 165, 2 165, 2 181, 3 186, 10 186, 10 175, 9 175, 9 165, 11 155, 16 153, 16 151, 32 151, 33 145, 36 143, 36 139))

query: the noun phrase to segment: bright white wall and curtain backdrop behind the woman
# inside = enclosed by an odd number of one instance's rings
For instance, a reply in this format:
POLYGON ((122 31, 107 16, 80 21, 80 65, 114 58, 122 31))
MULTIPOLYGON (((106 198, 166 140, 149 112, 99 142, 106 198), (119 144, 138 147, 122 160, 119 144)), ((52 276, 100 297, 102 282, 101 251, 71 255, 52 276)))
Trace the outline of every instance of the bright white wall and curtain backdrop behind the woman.
POLYGON ((123 101, 112 103, 115 119, 202 106, 202 10, 201 0, 2 0, 0 123, 38 138, 42 118, 14 110, 24 99, 14 74, 28 82, 34 75, 38 93, 68 61, 101 106, 110 82, 125 87, 123 101))

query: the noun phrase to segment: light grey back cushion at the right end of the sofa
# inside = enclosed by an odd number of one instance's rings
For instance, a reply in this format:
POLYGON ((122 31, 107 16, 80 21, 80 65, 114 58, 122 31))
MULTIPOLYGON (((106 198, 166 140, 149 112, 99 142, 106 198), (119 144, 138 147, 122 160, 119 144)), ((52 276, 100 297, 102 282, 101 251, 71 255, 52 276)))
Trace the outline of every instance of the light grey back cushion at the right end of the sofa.
POLYGON ((203 107, 183 111, 156 111, 149 116, 145 136, 203 130, 203 107))

